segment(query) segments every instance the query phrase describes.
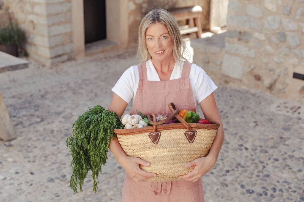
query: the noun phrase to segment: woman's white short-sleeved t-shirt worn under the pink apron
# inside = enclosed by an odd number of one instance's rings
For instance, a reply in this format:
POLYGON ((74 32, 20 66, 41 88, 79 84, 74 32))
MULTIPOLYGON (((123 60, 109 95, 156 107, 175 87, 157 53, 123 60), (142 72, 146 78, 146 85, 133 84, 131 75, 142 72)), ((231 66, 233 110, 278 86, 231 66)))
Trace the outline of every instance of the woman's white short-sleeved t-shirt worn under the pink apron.
MULTIPOLYGON (((175 63, 170 80, 181 78, 184 61, 175 63)), ((148 81, 161 81, 157 71, 151 60, 146 61, 147 66, 147 80, 148 81)), ((189 75, 192 94, 195 101, 196 108, 199 103, 208 97, 217 88, 216 84, 206 74, 206 72, 196 64, 191 65, 189 75)), ((136 91, 139 83, 138 66, 134 65, 128 68, 123 75, 119 78, 112 91, 121 97, 126 103, 132 101, 134 103, 136 91)))

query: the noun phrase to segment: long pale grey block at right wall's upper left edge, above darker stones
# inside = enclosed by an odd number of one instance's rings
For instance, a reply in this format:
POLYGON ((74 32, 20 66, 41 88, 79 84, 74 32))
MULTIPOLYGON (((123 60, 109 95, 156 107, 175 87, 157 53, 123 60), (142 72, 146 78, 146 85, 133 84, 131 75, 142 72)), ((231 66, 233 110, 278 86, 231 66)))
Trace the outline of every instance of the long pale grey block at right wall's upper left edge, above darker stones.
POLYGON ((227 25, 232 24, 241 28, 261 29, 260 21, 247 15, 231 15, 227 17, 227 25))

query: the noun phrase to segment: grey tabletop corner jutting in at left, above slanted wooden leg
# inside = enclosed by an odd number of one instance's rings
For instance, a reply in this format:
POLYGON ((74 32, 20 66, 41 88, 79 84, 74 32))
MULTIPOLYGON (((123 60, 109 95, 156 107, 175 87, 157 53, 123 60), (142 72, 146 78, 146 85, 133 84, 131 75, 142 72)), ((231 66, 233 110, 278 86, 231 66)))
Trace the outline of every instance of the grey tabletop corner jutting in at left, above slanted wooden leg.
POLYGON ((29 62, 0 51, 0 73, 29 67, 29 62))

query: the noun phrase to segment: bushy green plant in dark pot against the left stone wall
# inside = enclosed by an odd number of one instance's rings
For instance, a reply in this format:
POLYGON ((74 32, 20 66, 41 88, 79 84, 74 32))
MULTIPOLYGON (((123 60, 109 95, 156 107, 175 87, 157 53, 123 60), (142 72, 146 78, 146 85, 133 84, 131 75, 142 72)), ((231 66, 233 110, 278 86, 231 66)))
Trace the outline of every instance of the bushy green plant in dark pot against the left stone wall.
POLYGON ((25 39, 24 32, 18 24, 10 23, 5 28, 0 28, 0 51, 18 57, 18 45, 25 39))

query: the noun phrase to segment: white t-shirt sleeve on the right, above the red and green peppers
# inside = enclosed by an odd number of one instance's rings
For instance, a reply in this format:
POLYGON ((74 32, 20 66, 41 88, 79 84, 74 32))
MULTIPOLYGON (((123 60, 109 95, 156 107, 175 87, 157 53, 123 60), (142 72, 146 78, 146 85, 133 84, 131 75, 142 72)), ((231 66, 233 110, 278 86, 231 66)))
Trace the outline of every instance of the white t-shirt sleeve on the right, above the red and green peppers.
POLYGON ((206 74, 206 72, 199 66, 195 67, 195 98, 198 104, 207 98, 213 91, 216 90, 216 84, 206 74))

